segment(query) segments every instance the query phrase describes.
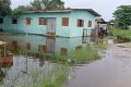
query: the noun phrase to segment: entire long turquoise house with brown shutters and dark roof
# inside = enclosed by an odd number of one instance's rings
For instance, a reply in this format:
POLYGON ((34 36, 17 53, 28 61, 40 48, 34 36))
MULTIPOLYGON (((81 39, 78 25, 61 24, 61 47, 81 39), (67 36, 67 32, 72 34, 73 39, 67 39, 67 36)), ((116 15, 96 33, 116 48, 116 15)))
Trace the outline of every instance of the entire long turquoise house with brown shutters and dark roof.
POLYGON ((92 9, 29 11, 17 17, 10 15, 1 18, 0 27, 5 32, 44 36, 91 36, 96 16, 99 14, 92 9))

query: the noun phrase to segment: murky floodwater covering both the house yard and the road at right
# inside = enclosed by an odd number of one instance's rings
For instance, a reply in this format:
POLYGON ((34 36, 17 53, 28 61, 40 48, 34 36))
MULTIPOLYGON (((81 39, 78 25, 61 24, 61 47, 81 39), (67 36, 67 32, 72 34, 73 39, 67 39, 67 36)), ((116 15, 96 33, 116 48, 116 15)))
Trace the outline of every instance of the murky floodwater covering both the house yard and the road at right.
MULTIPOLYGON (((36 35, 0 35, 13 52, 13 62, 0 64, 0 87, 38 87, 37 83, 56 72, 48 59, 98 42, 97 38, 49 38, 36 35), (20 51, 21 50, 21 51, 20 51), (41 59, 41 57, 46 59, 41 59)), ((9 51, 9 50, 8 50, 9 51)), ((131 87, 131 44, 111 44, 103 59, 71 66, 66 87, 131 87)), ((9 60, 10 61, 10 60, 9 60)), ((60 67, 60 66, 59 66, 60 67)), ((43 87, 43 86, 41 86, 43 87)))

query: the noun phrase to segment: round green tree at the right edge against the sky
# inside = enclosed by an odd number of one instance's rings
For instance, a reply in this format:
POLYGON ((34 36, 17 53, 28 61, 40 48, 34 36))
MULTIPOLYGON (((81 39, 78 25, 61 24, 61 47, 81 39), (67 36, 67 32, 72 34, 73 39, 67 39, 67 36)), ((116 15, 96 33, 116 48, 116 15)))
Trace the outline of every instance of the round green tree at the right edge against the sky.
POLYGON ((114 13, 115 20, 119 25, 127 29, 131 25, 131 5, 120 5, 114 13))

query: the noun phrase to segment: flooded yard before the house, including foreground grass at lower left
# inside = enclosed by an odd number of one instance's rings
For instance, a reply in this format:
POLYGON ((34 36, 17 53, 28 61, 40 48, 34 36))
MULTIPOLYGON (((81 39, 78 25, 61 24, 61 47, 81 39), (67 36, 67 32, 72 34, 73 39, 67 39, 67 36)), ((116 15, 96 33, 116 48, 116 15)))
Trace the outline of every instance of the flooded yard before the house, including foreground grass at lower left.
MULTIPOLYGON (((71 62, 70 55, 88 45, 97 44, 97 38, 55 38, 36 35, 0 35, 8 42, 7 51, 13 53, 13 61, 0 63, 0 87, 62 87, 74 75, 74 67, 56 62, 71 62), (70 74, 70 75, 69 75, 70 74)), ((85 52, 84 52, 85 53, 85 52)))

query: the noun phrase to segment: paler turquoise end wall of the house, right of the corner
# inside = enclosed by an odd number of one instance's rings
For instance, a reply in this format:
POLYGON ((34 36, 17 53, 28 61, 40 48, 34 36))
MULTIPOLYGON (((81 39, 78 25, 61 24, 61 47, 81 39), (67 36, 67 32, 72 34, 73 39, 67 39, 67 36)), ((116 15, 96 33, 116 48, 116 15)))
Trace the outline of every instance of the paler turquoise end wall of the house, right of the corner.
POLYGON ((73 11, 71 13, 71 37, 82 36, 83 29, 87 29, 87 36, 91 36, 91 29, 95 28, 95 16, 86 11, 73 11), (84 26, 78 27, 78 20, 84 20, 84 26), (92 27, 88 27, 88 21, 92 21, 92 27))

